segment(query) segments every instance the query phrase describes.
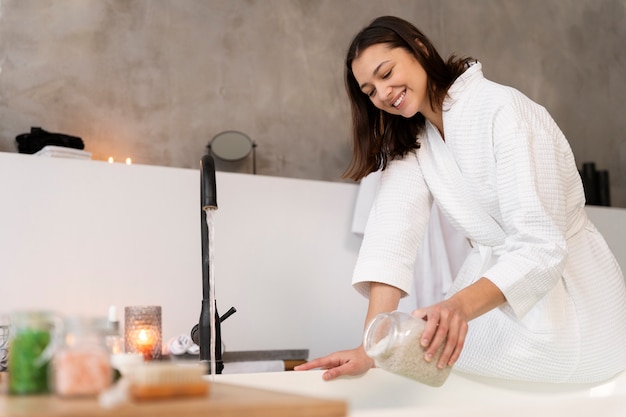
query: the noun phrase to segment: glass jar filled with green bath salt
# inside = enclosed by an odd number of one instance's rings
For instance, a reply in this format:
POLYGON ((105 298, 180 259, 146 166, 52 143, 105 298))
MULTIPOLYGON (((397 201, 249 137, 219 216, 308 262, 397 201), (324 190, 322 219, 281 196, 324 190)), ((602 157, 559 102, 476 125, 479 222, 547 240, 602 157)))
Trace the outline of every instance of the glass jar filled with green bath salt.
POLYGON ((26 311, 11 315, 9 341, 9 394, 48 392, 48 363, 57 319, 49 312, 26 311))

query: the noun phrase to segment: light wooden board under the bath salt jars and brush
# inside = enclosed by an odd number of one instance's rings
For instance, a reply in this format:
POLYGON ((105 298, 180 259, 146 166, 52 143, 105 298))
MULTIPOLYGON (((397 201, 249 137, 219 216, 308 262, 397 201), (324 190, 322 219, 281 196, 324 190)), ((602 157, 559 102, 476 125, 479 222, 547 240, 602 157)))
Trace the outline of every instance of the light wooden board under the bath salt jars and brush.
POLYGON ((341 417, 347 415, 347 409, 347 404, 340 400, 222 383, 212 383, 206 397, 132 402, 113 409, 102 408, 95 398, 0 396, 2 417, 341 417))

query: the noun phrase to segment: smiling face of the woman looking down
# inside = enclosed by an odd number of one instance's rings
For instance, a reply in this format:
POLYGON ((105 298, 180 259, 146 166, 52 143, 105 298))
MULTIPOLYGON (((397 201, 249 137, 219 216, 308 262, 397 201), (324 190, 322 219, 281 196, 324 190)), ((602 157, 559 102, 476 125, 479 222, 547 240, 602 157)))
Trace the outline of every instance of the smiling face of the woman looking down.
POLYGON ((432 111, 426 71, 403 48, 372 45, 352 61, 352 73, 374 106, 387 113, 410 118, 417 112, 432 111))

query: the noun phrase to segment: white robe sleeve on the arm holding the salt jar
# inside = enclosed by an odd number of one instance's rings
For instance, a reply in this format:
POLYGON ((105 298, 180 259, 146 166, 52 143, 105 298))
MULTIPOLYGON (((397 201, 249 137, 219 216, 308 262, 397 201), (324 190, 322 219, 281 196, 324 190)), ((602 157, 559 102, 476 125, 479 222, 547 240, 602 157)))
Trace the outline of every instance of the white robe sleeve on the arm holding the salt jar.
POLYGON ((496 263, 483 276, 494 282, 518 317, 560 279, 567 258, 569 145, 547 111, 512 93, 493 118, 496 187, 506 233, 496 263))

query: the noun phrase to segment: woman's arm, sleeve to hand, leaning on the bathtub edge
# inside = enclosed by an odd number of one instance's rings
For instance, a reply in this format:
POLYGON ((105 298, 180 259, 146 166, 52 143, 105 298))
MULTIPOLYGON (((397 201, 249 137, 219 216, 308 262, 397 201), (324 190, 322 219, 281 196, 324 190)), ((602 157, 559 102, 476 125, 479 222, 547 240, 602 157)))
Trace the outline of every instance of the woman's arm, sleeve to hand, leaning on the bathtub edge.
MULTIPOLYGON (((369 299, 365 326, 377 314, 396 310, 400 298, 410 290, 431 204, 432 196, 415 153, 391 161, 382 173, 352 278, 357 291, 369 299)), ((373 365, 374 361, 359 345, 295 369, 326 369, 323 378, 328 380, 360 375, 373 365)))

